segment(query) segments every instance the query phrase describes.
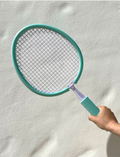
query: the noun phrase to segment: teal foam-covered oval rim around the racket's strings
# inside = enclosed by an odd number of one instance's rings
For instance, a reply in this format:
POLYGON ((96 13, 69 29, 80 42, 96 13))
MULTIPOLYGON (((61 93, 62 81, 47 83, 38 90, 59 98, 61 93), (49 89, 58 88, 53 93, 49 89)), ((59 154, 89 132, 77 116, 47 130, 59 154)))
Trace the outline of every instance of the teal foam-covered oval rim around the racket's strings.
POLYGON ((78 69, 76 77, 74 78, 74 80, 72 82, 76 84, 78 82, 81 74, 82 74, 83 56, 82 56, 81 50, 78 47, 78 45, 76 44, 76 42, 70 36, 68 36, 66 33, 64 33, 63 31, 61 31, 61 30, 59 30, 55 27, 52 27, 52 26, 49 26, 49 25, 44 25, 44 24, 28 25, 28 26, 24 27, 23 29, 21 29, 16 34, 16 36, 14 37, 13 42, 12 42, 12 46, 11 46, 11 57, 12 57, 12 62, 13 62, 13 66, 15 68, 15 71, 16 71, 17 75, 19 76, 20 80, 24 83, 24 85, 36 94, 39 94, 39 95, 42 95, 42 96, 56 96, 56 95, 63 94, 65 92, 69 91, 69 85, 70 85, 71 82, 68 84, 67 87, 63 88, 62 90, 55 91, 55 92, 44 92, 44 91, 40 91, 40 90, 37 90, 36 88, 34 88, 25 79, 25 77, 23 76, 22 72, 19 69, 19 65, 18 65, 17 58, 16 58, 16 45, 17 45, 17 42, 25 32, 27 32, 28 30, 31 30, 31 29, 35 29, 35 28, 41 28, 41 29, 47 29, 47 30, 53 31, 53 32, 61 35, 63 38, 67 39, 69 41, 69 43, 74 47, 74 49, 75 49, 75 51, 78 55, 78 58, 79 58, 79 69, 78 69))

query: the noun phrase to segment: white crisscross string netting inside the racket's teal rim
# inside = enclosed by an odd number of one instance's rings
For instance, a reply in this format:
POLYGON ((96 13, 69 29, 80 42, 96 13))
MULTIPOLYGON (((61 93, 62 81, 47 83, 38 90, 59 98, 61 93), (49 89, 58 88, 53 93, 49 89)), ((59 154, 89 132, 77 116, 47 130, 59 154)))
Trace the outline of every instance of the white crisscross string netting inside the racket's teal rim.
POLYGON ((79 57, 74 46, 49 29, 34 28, 24 32, 15 52, 25 80, 43 93, 55 93, 68 87, 79 71, 79 57))

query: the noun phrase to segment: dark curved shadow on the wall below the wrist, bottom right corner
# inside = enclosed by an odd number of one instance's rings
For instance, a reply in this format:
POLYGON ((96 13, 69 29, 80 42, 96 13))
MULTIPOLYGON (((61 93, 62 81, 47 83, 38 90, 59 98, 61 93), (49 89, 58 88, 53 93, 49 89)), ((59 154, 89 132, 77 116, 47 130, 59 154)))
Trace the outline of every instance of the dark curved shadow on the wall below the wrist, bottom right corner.
POLYGON ((107 144, 107 157, 120 157, 120 137, 111 134, 107 144))

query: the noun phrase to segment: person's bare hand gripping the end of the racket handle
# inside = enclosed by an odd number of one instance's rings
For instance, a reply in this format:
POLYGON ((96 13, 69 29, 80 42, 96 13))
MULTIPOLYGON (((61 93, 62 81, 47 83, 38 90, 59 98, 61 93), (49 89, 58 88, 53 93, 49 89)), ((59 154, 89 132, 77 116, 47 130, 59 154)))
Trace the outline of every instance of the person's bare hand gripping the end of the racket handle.
POLYGON ((111 130, 118 123, 114 113, 106 106, 98 106, 98 108, 99 114, 97 116, 90 115, 88 119, 103 130, 111 130))

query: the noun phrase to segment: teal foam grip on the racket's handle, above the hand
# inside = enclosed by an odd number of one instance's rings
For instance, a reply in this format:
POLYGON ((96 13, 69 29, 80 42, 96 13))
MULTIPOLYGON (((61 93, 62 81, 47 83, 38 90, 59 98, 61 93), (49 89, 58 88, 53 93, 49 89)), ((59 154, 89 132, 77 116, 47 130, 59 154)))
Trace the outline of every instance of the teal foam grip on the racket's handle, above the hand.
POLYGON ((81 104, 86 108, 86 110, 93 116, 97 116, 100 112, 99 108, 88 98, 85 97, 81 104))

